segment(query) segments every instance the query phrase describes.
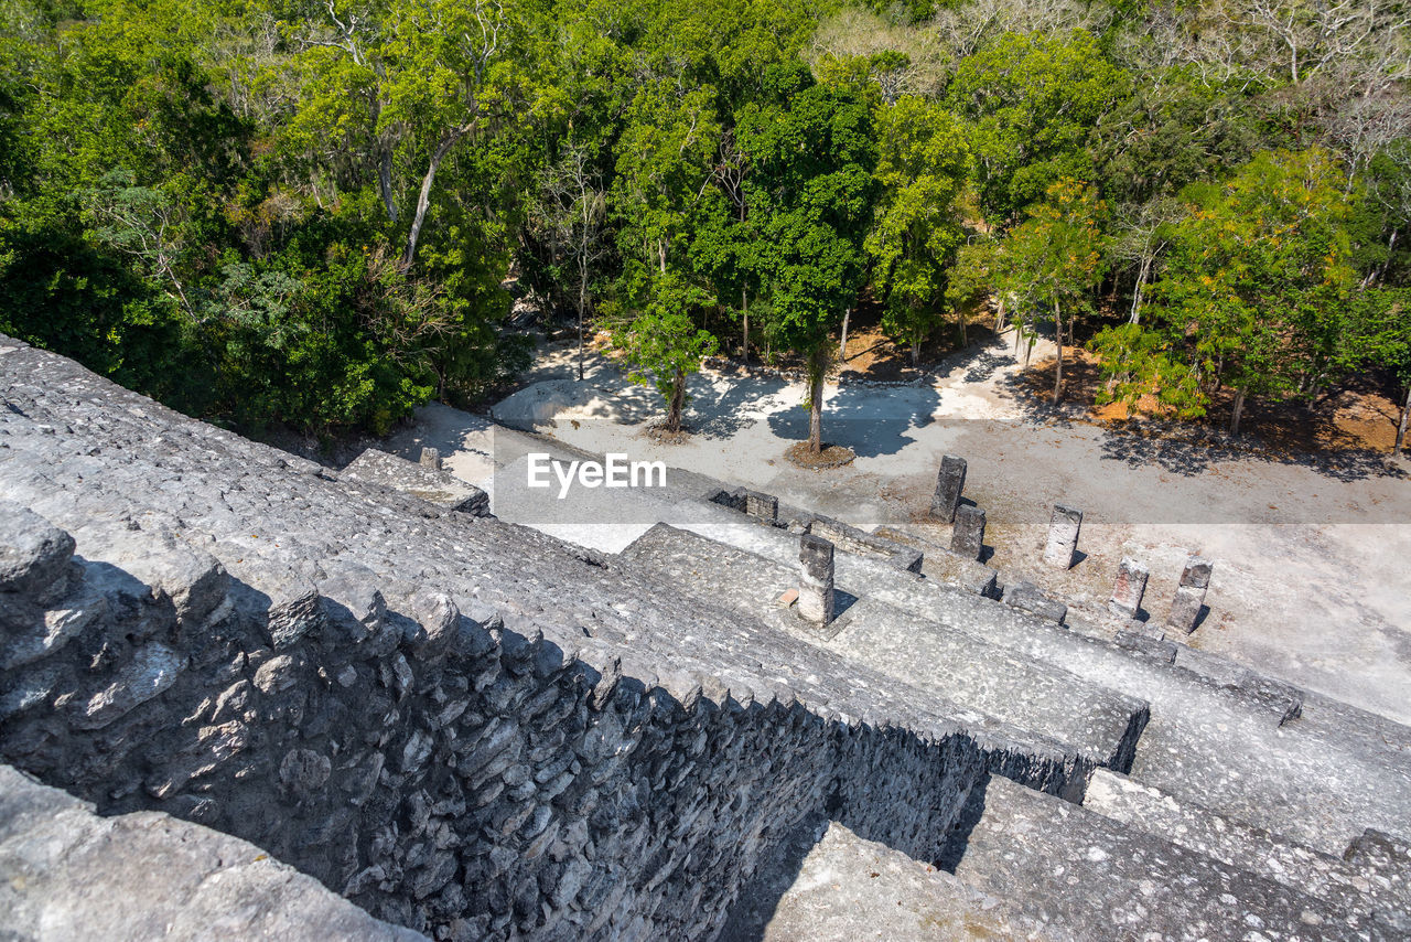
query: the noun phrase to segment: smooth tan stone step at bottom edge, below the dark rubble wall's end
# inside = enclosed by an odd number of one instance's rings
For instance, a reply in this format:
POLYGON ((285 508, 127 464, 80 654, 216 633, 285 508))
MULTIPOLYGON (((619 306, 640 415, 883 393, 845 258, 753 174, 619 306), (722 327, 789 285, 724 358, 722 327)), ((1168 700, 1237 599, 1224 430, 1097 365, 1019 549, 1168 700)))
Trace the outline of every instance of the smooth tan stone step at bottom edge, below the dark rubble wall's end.
POLYGON ((933 864, 866 840, 837 822, 804 835, 797 859, 756 877, 718 942, 957 942, 1077 936, 1044 925, 933 864), (761 886, 762 884, 762 886, 761 886))

